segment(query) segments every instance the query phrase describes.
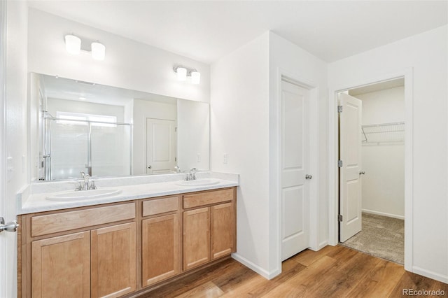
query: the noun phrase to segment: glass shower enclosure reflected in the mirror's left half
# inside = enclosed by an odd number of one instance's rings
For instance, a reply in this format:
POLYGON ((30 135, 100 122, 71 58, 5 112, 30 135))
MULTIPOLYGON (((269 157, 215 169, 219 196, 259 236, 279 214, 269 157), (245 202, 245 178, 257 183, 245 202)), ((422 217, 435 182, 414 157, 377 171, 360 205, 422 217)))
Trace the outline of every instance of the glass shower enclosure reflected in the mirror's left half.
POLYGON ((132 173, 131 124, 118 123, 111 116, 67 114, 58 112, 53 117, 43 113, 45 146, 41 177, 44 180, 76 178, 80 171, 90 176, 132 173))

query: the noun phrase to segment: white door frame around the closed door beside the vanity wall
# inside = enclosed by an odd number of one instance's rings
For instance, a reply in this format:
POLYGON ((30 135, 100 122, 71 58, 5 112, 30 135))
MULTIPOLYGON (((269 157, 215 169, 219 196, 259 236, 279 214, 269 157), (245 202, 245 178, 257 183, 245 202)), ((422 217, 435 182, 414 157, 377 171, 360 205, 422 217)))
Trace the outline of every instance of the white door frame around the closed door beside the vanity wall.
POLYGON ((320 101, 319 87, 317 83, 307 80, 297 73, 291 73, 284 69, 278 68, 276 70, 276 92, 274 97, 276 101, 271 101, 269 111, 276 111, 274 117, 276 118, 274 125, 276 140, 273 140, 271 146, 274 154, 272 164, 269 164, 269 171, 272 172, 272 185, 269 190, 270 206, 272 210, 276 210, 276 266, 277 269, 272 271, 269 276, 276 276, 281 273, 281 222, 283 219, 281 213, 281 81, 286 80, 288 83, 298 85, 309 90, 309 174, 313 176, 309 180, 309 249, 319 250, 327 245, 327 241, 323 243, 318 242, 318 218, 319 218, 319 164, 318 164, 318 148, 319 148, 319 113, 318 106, 320 101), (271 171, 272 170, 272 171, 271 171), (272 206, 272 204, 274 206, 272 206))

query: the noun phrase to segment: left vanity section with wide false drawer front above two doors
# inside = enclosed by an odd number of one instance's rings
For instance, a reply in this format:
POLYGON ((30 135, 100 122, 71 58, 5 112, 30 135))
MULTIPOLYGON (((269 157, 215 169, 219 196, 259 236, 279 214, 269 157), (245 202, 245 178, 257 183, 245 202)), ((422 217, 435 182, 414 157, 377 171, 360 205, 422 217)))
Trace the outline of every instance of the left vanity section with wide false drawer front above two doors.
POLYGON ((134 201, 22 215, 19 293, 44 298, 134 292, 135 218, 134 201))

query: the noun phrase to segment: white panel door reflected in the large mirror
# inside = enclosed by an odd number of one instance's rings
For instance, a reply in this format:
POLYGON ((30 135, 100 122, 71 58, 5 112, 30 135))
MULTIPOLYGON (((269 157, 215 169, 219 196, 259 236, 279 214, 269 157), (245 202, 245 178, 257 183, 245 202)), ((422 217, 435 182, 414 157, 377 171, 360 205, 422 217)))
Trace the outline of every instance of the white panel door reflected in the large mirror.
POLYGON ((146 173, 169 173, 176 166, 176 123, 146 118, 146 173))

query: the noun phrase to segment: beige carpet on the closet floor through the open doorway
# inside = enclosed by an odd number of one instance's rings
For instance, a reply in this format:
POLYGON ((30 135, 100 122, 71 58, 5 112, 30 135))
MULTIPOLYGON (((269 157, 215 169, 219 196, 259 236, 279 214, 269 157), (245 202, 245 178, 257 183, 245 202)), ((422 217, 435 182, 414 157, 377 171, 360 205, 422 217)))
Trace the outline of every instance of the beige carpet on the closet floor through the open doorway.
POLYGON ((363 230, 341 245, 404 264, 405 220, 363 213, 363 230))

